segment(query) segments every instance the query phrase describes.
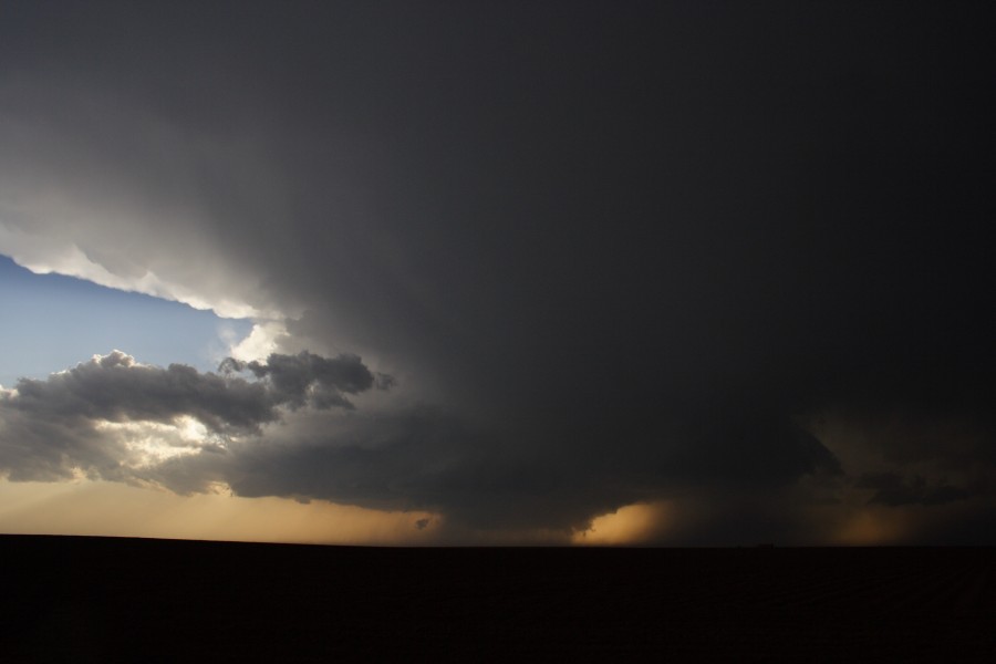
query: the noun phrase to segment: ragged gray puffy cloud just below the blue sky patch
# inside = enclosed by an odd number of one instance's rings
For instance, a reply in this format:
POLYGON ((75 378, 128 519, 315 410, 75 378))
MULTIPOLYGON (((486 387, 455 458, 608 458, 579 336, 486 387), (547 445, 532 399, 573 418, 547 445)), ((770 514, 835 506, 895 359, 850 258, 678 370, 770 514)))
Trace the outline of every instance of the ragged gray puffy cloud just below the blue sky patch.
POLYGON ((374 375, 355 355, 334 359, 271 354, 252 363, 260 380, 222 375, 172 364, 144 365, 114 351, 94 356, 45 381, 21 378, 0 394, 0 469, 13 479, 71 477, 74 469, 107 479, 127 475, 128 454, 118 435, 101 423, 176 424, 190 417, 214 436, 258 435, 284 408, 308 403, 313 409, 352 408, 343 392, 374 385, 374 375), (279 376, 279 377, 278 377, 279 376))

